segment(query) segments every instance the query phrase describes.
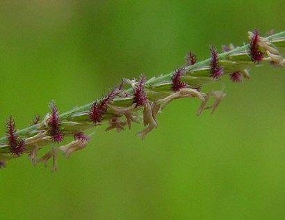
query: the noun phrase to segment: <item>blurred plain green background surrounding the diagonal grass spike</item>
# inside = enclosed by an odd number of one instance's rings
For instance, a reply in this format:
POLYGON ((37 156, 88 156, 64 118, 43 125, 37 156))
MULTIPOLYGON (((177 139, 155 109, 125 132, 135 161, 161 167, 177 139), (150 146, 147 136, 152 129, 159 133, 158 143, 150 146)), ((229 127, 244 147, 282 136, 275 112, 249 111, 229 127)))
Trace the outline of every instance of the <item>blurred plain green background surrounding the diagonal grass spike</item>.
MULTIPOLYGON (((0 1, 0 128, 24 128, 50 100, 61 112, 122 77, 199 60, 209 45, 284 31, 283 1, 0 1)), ((215 114, 177 100, 141 141, 99 126, 58 172, 26 155, 0 171, 1 219, 285 219, 285 70, 226 80, 215 114)))

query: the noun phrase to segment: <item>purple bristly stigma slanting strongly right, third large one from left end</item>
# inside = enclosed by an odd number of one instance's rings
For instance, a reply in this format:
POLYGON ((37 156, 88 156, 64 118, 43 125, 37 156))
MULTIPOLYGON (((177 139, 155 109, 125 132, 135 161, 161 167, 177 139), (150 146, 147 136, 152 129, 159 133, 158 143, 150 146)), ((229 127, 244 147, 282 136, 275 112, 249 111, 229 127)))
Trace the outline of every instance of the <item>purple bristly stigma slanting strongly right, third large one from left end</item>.
POLYGON ((107 104, 116 95, 115 89, 101 98, 101 100, 96 100, 90 107, 89 118, 92 122, 97 125, 101 123, 102 115, 107 111, 107 104))

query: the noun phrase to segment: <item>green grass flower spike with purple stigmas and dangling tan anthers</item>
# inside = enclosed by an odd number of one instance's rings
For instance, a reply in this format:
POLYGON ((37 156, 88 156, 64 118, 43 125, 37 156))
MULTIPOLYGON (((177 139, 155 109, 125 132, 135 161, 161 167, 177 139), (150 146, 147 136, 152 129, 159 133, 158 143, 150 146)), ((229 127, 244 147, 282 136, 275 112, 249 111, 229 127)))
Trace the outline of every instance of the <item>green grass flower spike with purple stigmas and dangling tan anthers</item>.
POLYGON ((10 131, 10 136, 0 138, 0 167, 9 159, 19 157, 22 153, 29 153, 33 164, 53 158, 56 170, 56 150, 60 149, 69 156, 72 152, 84 148, 89 137, 83 131, 91 127, 101 125, 108 121, 109 129, 117 129, 120 132, 125 126, 131 127, 131 123, 138 123, 141 120, 145 129, 138 133, 142 138, 152 129, 158 126, 156 114, 159 113, 169 102, 182 97, 197 97, 202 101, 197 114, 204 109, 215 110, 225 94, 222 91, 206 91, 202 89, 206 84, 213 84, 229 75, 232 81, 241 81, 249 78, 248 69, 263 63, 270 63, 277 66, 285 66, 285 31, 276 33, 267 38, 259 36, 258 31, 249 32, 250 43, 242 47, 229 45, 224 47, 224 52, 218 54, 214 47, 211 47, 211 58, 196 62, 195 55, 190 52, 190 62, 183 68, 179 68, 169 74, 154 77, 145 81, 122 79, 120 87, 115 88, 108 95, 95 102, 77 107, 71 111, 58 114, 56 105, 51 103, 51 113, 38 123, 38 116, 35 118, 36 125, 31 125, 22 130, 10 131), (213 97, 215 102, 205 107, 206 102, 213 97), (11 132, 12 131, 12 132, 11 132), (19 141, 10 144, 9 137, 16 136, 19 141), (74 141, 58 148, 52 148, 44 157, 38 159, 39 146, 52 143, 60 143, 66 136, 74 136, 74 141), (21 148, 19 148, 21 143, 21 148), (13 154, 13 149, 17 153, 13 154))

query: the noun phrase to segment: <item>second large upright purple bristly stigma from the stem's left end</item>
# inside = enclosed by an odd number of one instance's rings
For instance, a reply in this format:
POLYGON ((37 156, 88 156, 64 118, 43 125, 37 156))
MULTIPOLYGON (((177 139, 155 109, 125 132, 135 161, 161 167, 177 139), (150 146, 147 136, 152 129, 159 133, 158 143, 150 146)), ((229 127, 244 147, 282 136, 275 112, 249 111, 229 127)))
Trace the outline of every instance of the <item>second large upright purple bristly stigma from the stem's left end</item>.
POLYGON ((51 102, 51 113, 48 120, 49 125, 49 135, 51 136, 51 140, 55 143, 60 143, 63 141, 63 132, 60 129, 60 119, 58 116, 58 109, 56 108, 56 104, 51 102))

